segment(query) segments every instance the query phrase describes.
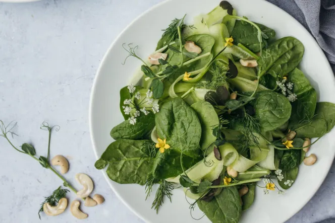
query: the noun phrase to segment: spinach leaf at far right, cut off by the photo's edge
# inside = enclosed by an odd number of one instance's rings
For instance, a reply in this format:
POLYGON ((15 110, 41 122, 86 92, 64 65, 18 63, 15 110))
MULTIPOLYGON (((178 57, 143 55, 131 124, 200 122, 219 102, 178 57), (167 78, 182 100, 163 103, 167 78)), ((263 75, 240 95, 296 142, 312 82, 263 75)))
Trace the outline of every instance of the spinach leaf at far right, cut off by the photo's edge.
POLYGON ((329 102, 316 103, 315 115, 294 128, 296 137, 314 138, 328 133, 335 125, 335 104, 329 102))

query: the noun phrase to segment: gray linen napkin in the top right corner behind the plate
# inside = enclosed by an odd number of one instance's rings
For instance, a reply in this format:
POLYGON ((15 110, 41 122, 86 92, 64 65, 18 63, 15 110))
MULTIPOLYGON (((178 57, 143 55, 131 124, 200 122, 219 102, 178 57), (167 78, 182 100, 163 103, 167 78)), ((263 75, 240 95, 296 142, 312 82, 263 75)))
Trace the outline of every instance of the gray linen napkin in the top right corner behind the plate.
POLYGON ((335 73, 335 0, 266 0, 298 20, 323 49, 335 73))

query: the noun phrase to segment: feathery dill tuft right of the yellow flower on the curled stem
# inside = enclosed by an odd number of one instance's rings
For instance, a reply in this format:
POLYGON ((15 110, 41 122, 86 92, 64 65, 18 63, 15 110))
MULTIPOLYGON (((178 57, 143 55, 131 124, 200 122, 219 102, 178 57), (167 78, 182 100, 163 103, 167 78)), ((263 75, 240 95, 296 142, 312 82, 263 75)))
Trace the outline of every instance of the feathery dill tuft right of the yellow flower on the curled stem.
POLYGON ((206 76, 206 80, 199 82, 197 88, 216 90, 217 87, 226 84, 227 67, 224 64, 213 62, 208 71, 211 73, 211 76, 206 76))

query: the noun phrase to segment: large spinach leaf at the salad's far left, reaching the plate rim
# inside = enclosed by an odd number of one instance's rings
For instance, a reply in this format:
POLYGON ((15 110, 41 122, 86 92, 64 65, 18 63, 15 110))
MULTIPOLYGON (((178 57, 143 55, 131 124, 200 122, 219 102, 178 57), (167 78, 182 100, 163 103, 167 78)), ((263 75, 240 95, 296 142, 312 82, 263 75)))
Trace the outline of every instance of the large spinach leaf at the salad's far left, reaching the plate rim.
POLYGON ((94 166, 101 170, 108 165, 106 173, 117 183, 144 185, 155 160, 153 149, 149 140, 119 139, 106 148, 94 166))

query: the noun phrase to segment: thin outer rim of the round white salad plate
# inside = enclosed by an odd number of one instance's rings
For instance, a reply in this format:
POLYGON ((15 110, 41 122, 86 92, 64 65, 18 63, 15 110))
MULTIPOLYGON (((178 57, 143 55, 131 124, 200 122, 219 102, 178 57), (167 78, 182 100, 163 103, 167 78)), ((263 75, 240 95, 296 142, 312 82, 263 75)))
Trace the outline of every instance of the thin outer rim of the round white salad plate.
MULTIPOLYGON (((6 0, 5 0, 6 1, 6 0)), ((8 0, 8 1, 11 1, 11 0, 8 0)), ((24 1, 24 0, 23 0, 24 1)), ((30 2, 34 2, 34 1, 39 1, 39 0, 27 0, 27 1, 30 1, 30 2)), ((96 159, 98 160, 99 159, 99 156, 98 156, 98 152, 97 152, 97 146, 95 144, 95 140, 94 140, 94 136, 93 136, 93 123, 92 123, 92 112, 93 112, 93 107, 92 107, 92 103, 93 103, 93 99, 94 99, 94 92, 95 92, 95 89, 96 89, 96 83, 97 83, 97 80, 99 79, 99 76, 100 76, 100 71, 104 65, 104 63, 106 62, 106 58, 107 56, 109 55, 109 53, 111 52, 111 49, 114 48, 116 42, 118 42, 118 40, 121 38, 121 36, 129 29, 129 27, 131 27, 136 21, 138 21, 139 19, 141 19, 144 15, 146 15, 147 13, 149 13, 150 11, 153 11, 155 10, 156 8, 160 7, 161 5, 164 5, 166 4, 167 2, 171 2, 171 1, 174 1, 174 0, 164 0, 152 7, 150 7, 149 9, 145 10, 143 13, 141 13, 139 16, 137 16, 132 22, 130 22, 123 30, 121 33, 119 33, 119 35, 114 39, 114 41, 109 45, 108 49, 106 50, 106 52, 104 53, 102 59, 101 59, 101 62, 98 66, 98 69, 96 71, 96 74, 95 74, 95 77, 94 77, 94 80, 93 80, 93 83, 92 83, 92 88, 91 88, 91 93, 90 93, 90 101, 89 101, 89 130, 90 130, 90 137, 91 137, 91 142, 92 142, 92 145, 93 145, 93 153, 96 157, 96 159)), ((260 0, 252 0, 252 1, 260 1, 260 0)), ((322 50, 322 48, 320 47, 320 45, 318 44, 318 42, 316 41, 316 39, 314 38, 314 36, 298 21, 296 20, 292 15, 290 15, 289 13, 287 13, 285 10, 281 9, 280 7, 272 4, 272 3, 269 3, 267 1, 262 1, 262 2, 265 2, 265 4, 267 5, 272 5, 274 6, 275 8, 277 8, 277 10, 279 11, 282 11, 284 12, 287 16, 289 16, 292 20, 294 20, 294 22, 298 25, 298 26, 301 26, 303 28, 303 30, 305 31, 306 34, 308 34, 310 37, 312 37, 312 41, 314 41, 314 43, 317 44, 317 50, 319 52, 321 52, 321 55, 322 55, 322 58, 323 60, 326 61, 326 64, 327 64, 327 67, 326 69, 328 69, 328 71, 330 73, 333 73, 332 69, 331 69, 331 66, 330 66, 330 63, 324 53, 324 51, 322 50)), ((335 83, 335 77, 334 77, 334 73, 333 73, 333 76, 331 77, 333 83, 335 83)), ((332 163, 334 161, 334 158, 335 158, 335 153, 333 153, 332 155, 332 163)), ((307 195, 307 200, 306 202, 304 202, 303 205, 301 205, 299 207, 299 209, 297 209, 297 211, 293 214, 289 214, 287 216, 287 218, 285 219, 285 221, 289 220, 291 217, 293 217, 295 214, 297 214, 304 206, 306 206, 306 204, 312 199, 312 197, 316 194, 316 192, 320 189, 321 185, 323 184, 325 178, 327 177, 328 173, 329 173, 329 170, 331 168, 331 164, 328 166, 328 168, 326 168, 326 174, 322 177, 322 180, 319 181, 317 187, 315 190, 313 190, 309 195, 307 195)), ((111 180, 108 178, 106 172, 104 170, 100 170, 102 172, 102 175, 104 176, 105 180, 107 181, 107 184, 109 185, 109 187, 113 190, 113 192, 116 194, 116 196, 118 197, 119 200, 121 200, 125 206, 130 209, 133 213, 136 214, 137 217, 139 217, 140 219, 142 219, 144 222, 147 222, 147 219, 145 219, 142 214, 140 214, 137 210, 135 210, 133 207, 131 207, 128 202, 126 202, 121 194, 114 188, 114 186, 111 184, 111 180)))

